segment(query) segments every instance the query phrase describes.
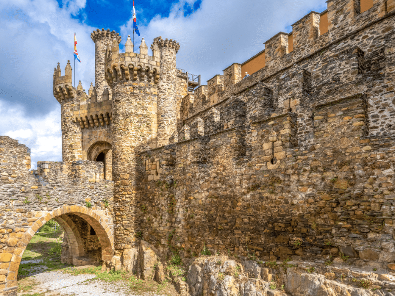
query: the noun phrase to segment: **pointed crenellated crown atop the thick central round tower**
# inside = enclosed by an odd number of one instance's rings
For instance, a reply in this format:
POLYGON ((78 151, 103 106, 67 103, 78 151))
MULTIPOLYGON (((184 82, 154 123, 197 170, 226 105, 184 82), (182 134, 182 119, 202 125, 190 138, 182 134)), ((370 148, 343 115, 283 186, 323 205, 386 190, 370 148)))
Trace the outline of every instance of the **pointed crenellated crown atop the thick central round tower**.
POLYGON ((160 58, 155 52, 153 56, 148 55, 148 47, 144 38, 141 41, 140 54, 131 52, 132 46, 125 46, 125 48, 124 53, 119 53, 116 41, 113 42, 111 49, 107 48, 105 59, 107 83, 111 85, 113 82, 126 80, 158 83, 160 58))

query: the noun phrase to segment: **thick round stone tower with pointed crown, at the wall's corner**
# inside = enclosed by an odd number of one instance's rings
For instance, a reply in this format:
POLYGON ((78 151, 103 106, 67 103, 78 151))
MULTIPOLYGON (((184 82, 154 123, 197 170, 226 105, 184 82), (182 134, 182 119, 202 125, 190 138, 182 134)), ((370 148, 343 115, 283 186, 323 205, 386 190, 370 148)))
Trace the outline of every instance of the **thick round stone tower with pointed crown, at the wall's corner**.
MULTIPOLYGON (((130 39, 130 38, 128 38, 130 39)), ((113 181, 115 248, 131 249, 134 243, 134 199, 138 185, 137 156, 155 137, 157 84, 160 59, 148 56, 142 42, 140 54, 119 53, 117 40, 106 59, 106 80, 113 94, 113 181), (122 213, 120 215, 119 213, 122 213)), ((145 45, 145 46, 144 46, 145 45)))

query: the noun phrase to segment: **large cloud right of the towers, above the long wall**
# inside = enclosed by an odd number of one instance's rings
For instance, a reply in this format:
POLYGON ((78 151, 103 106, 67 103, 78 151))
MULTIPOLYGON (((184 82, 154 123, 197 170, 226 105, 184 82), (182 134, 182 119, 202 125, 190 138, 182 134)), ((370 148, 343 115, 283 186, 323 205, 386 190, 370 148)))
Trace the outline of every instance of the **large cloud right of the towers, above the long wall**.
MULTIPOLYGON (((263 50, 263 42, 312 9, 326 9, 325 0, 202 0, 197 11, 184 16, 184 5, 194 2, 180 0, 168 17, 156 16, 138 25, 148 46, 158 36, 176 39, 181 46, 177 67, 201 74, 203 83, 263 50)), ((129 20, 121 27, 121 35, 125 40, 132 33, 129 20)), ((135 48, 140 45, 136 43, 135 48)))

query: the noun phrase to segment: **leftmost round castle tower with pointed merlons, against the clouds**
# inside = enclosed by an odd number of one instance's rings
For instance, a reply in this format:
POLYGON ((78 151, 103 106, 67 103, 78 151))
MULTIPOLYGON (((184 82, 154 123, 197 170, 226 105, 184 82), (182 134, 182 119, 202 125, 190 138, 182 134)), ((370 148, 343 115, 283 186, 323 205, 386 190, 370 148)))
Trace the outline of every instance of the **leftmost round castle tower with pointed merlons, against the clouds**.
POLYGON ((79 99, 72 84, 72 72, 70 61, 67 61, 64 76, 61 76, 59 63, 53 74, 53 95, 60 103, 62 117, 62 154, 65 162, 82 159, 82 132, 79 125, 73 122, 73 110, 79 106, 79 99))

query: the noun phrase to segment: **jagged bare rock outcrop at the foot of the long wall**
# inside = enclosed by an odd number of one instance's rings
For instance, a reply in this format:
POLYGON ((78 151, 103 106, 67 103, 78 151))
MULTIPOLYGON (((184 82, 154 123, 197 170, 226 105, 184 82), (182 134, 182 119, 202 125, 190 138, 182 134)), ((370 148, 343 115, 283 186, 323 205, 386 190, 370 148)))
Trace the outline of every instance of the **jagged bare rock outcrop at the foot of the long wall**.
POLYGON ((344 262, 200 257, 186 279, 191 296, 395 296, 395 273, 387 272, 344 262))

